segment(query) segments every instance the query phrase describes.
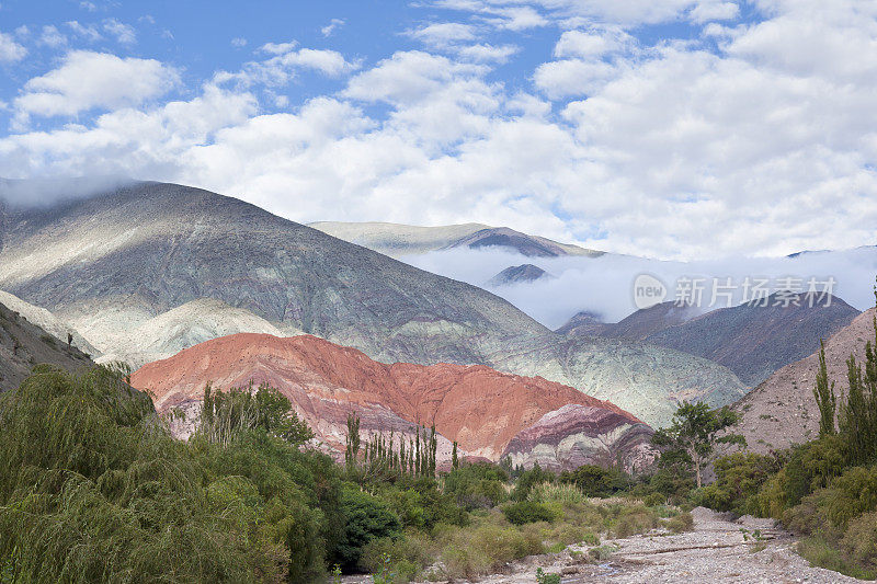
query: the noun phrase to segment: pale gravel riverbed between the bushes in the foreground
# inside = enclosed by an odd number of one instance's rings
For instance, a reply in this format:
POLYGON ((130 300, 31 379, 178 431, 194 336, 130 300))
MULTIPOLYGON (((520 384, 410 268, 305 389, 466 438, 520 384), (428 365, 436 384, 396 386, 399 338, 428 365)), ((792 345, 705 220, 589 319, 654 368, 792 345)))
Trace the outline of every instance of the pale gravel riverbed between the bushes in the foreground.
MULTIPOLYGON (((576 552, 586 556, 589 548, 572 546, 561 553, 525 558, 509 565, 505 574, 486 576, 479 582, 533 584, 538 568, 546 573, 562 574, 563 584, 863 582, 810 566, 795 552, 796 539, 774 528, 771 519, 742 517, 728 522, 703 507, 694 509, 692 515, 694 529, 685 534, 654 533, 604 540, 603 546, 618 548, 604 561, 584 563, 576 552), (753 537, 756 530, 759 538, 753 537)), ((366 583, 371 579, 351 577, 345 582, 366 583)))

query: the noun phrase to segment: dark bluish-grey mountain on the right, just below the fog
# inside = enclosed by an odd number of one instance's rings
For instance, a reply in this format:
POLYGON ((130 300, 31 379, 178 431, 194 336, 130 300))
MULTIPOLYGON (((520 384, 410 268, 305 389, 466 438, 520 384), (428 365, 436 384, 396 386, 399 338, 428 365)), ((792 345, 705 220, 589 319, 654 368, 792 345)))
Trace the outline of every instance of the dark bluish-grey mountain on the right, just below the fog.
POLYGON ((720 363, 754 387, 781 367, 811 354, 820 339, 828 339, 859 314, 838 297, 818 304, 797 295, 795 301, 799 306, 777 306, 774 295, 765 307, 714 310, 645 341, 720 363))

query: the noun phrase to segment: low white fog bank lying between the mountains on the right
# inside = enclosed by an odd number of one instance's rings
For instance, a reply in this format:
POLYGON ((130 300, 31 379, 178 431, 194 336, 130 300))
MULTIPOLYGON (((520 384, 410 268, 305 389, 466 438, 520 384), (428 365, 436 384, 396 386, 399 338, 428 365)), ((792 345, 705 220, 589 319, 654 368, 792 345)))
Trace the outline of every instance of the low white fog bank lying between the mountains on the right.
MULTIPOLYGON (((731 278, 736 287, 732 304, 742 301, 747 277, 771 278, 767 287, 776 291, 787 277, 799 279, 807 291, 808 280, 816 278, 822 291, 830 277, 836 280, 831 290, 859 310, 874 306, 873 286, 877 275, 877 248, 846 251, 809 252, 794 257, 748 257, 738 260, 698 261, 691 263, 662 262, 642 257, 605 254, 589 259, 580 256, 526 257, 500 248, 481 250, 453 249, 410 255, 402 261, 454 279, 489 289, 550 329, 557 329, 581 310, 600 314, 606 322, 616 322, 636 310, 634 280, 639 274, 657 276, 668 288, 667 300, 676 298, 679 278, 707 278, 703 282, 704 311, 713 295, 711 278, 721 284, 731 278), (489 287, 486 283, 498 272, 521 264, 534 264, 555 278, 533 283, 489 287)), ((794 280, 793 280, 794 283, 794 280)), ((720 289, 719 291, 728 291, 720 289)), ((751 298, 751 296, 750 296, 751 298)), ((724 296, 714 308, 727 305, 724 296)))

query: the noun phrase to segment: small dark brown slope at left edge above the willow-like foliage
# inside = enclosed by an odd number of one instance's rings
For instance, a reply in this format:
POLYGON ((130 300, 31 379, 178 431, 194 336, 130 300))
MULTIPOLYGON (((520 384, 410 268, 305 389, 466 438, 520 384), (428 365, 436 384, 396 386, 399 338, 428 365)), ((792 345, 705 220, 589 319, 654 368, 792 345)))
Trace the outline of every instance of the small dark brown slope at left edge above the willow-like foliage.
POLYGON ((18 388, 34 365, 44 363, 71 373, 93 365, 66 337, 53 336, 0 304, 0 393, 18 388))

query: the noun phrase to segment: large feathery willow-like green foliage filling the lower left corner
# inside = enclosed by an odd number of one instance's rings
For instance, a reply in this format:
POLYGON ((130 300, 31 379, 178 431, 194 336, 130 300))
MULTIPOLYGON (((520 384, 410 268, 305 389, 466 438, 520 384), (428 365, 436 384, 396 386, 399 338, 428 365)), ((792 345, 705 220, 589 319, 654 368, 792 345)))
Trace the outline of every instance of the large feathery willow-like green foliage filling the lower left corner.
POLYGON ((289 551, 255 520, 252 485, 216 484, 112 371, 37 368, 3 396, 0 427, 0 559, 12 558, 12 580, 276 582, 286 572, 289 551))

